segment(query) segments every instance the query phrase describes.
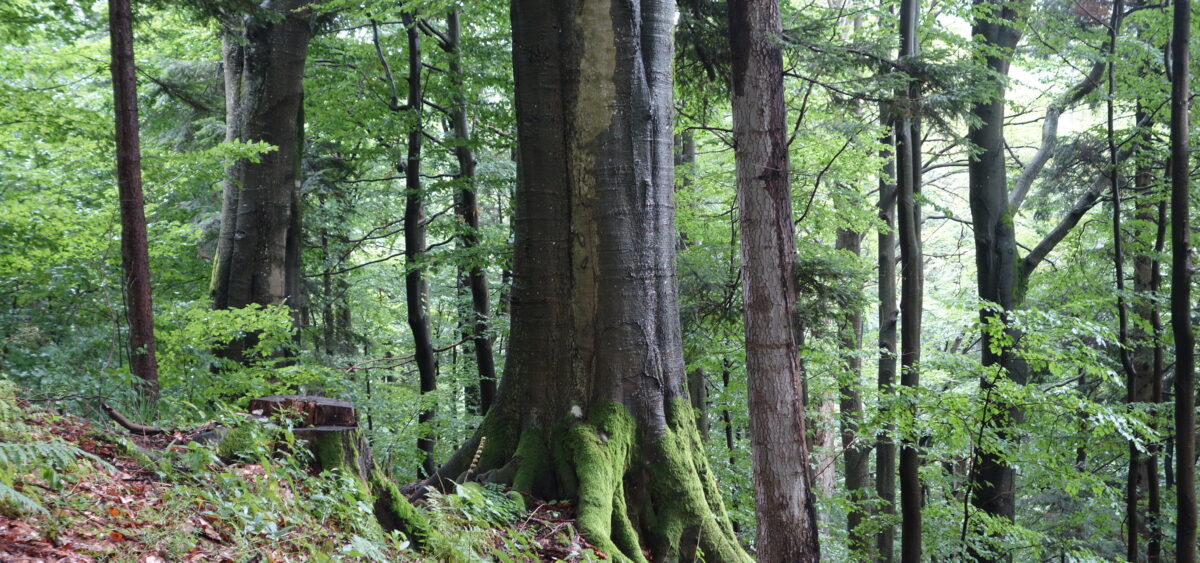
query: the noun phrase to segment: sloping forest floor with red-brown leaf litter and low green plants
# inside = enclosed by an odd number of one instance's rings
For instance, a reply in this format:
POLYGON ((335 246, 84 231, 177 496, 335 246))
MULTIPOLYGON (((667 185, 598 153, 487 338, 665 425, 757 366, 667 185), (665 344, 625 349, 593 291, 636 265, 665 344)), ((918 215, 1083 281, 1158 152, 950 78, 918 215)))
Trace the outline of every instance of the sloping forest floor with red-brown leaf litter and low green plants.
POLYGON ((511 496, 484 487, 434 493, 421 508, 431 514, 436 551, 418 553, 382 533, 370 504, 356 502, 344 481, 322 483, 331 479, 277 460, 220 462, 210 447, 188 443, 193 432, 122 436, 20 401, 12 406, 0 415, 0 562, 605 558, 580 537, 566 503, 504 505, 511 496), (24 439, 13 439, 18 433, 24 439), (37 444, 85 454, 48 461, 37 444), (174 469, 164 471, 163 460, 174 469), (187 460, 203 467, 182 467, 187 460), (35 504, 22 507, 18 497, 35 504))

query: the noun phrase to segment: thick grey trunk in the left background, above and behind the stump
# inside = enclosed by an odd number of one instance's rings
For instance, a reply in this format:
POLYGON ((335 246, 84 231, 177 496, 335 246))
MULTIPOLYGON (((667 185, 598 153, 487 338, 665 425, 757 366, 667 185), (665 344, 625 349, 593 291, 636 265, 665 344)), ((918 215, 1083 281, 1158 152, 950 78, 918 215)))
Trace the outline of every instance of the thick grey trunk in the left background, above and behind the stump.
MULTIPOLYGON (((304 66, 312 37, 310 0, 268 0, 224 18, 226 140, 263 142, 258 162, 226 170, 212 306, 292 305, 300 299, 300 151, 304 66)), ((250 336, 230 342, 242 359, 250 336)))

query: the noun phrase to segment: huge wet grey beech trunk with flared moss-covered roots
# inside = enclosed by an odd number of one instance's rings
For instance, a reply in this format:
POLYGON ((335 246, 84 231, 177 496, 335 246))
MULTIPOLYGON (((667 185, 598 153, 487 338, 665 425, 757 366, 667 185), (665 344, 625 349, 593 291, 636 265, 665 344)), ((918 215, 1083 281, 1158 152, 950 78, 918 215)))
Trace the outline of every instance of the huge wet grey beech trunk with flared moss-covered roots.
POLYGON ((516 0, 521 179, 509 358, 440 467, 547 498, 616 561, 748 561, 686 394, 665 0, 516 0))

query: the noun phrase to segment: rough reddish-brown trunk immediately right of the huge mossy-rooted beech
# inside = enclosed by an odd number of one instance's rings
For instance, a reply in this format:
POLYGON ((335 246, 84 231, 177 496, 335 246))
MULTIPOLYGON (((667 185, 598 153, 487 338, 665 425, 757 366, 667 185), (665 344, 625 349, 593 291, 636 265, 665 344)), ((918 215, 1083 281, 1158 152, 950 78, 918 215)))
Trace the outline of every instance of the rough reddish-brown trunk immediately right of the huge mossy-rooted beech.
POLYGON ((805 471, 808 432, 792 328, 796 240, 779 2, 732 0, 728 16, 758 558, 816 561, 817 517, 805 471))

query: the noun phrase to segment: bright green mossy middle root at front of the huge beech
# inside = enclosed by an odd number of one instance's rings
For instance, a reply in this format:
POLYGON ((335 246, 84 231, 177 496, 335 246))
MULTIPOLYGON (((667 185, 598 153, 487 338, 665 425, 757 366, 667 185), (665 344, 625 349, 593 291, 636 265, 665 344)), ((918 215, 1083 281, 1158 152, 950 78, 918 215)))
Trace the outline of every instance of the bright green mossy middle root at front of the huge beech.
POLYGON ((617 562, 646 561, 625 514, 622 486, 635 430, 629 411, 610 402, 594 406, 588 420, 571 426, 566 435, 578 480, 580 532, 617 562))

